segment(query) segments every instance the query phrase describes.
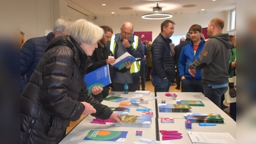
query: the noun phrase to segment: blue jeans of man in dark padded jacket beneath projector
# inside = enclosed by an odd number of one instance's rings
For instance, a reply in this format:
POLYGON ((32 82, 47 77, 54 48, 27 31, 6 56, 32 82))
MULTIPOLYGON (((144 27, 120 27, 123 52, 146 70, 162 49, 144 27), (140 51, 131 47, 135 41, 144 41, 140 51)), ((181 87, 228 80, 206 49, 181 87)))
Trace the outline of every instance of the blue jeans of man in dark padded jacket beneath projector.
POLYGON ((152 76, 152 84, 156 92, 169 92, 171 86, 170 79, 161 79, 159 76, 152 76))

